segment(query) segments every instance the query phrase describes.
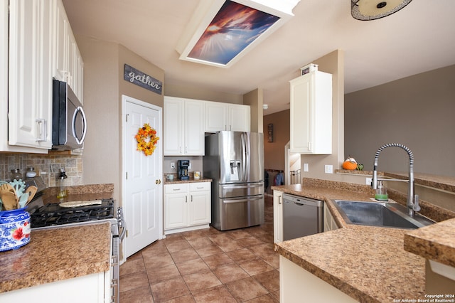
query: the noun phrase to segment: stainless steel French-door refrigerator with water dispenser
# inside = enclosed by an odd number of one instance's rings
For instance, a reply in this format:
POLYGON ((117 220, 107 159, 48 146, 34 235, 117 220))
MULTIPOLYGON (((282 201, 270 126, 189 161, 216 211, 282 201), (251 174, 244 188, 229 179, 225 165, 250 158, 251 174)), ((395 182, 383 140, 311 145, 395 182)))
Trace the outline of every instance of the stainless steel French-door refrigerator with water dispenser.
POLYGON ((213 179, 213 227, 264 223, 264 134, 223 131, 205 137, 203 176, 213 179))

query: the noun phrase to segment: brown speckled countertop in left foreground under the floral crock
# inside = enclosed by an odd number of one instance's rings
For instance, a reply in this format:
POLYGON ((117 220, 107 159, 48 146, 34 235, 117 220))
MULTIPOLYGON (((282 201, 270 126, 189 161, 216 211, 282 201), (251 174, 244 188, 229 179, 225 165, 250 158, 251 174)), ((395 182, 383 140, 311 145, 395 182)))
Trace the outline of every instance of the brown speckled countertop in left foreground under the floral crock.
POLYGON ((109 223, 32 229, 27 245, 0 252, 0 293, 105 272, 110 247, 109 223))

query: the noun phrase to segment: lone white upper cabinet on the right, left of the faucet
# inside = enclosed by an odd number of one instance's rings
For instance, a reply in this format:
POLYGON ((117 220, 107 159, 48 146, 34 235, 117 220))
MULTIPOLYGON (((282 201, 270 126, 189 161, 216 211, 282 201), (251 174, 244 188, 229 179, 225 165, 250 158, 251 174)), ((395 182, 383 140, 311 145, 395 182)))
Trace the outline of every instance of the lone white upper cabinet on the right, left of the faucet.
POLYGON ((299 154, 331 154, 332 75, 316 70, 290 83, 290 151, 299 154))

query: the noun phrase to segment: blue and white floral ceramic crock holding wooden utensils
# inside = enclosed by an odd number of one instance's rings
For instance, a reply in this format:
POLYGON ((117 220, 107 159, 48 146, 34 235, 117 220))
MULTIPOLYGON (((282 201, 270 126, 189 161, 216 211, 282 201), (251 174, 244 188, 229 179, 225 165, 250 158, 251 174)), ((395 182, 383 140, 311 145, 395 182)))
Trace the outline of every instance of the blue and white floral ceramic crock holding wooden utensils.
POLYGON ((16 250, 30 242, 30 214, 26 207, 0 211, 0 251, 16 250))

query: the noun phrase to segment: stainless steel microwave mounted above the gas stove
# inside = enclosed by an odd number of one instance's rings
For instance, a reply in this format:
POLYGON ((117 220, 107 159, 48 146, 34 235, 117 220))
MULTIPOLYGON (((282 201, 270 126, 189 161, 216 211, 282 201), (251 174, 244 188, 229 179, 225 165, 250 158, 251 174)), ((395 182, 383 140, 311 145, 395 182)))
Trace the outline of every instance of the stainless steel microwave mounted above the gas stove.
POLYGON ((87 119, 82 105, 68 83, 53 80, 52 149, 84 147, 87 119))

